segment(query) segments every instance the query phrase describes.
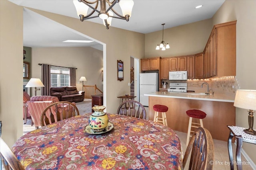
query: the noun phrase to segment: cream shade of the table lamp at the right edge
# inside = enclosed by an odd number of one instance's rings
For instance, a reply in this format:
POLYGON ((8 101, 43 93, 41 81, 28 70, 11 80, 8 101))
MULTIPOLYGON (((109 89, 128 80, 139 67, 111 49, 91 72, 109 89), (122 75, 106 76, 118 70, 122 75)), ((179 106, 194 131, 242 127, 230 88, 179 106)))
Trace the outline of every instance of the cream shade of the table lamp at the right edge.
POLYGON ((256 90, 236 90, 234 106, 256 110, 256 90))

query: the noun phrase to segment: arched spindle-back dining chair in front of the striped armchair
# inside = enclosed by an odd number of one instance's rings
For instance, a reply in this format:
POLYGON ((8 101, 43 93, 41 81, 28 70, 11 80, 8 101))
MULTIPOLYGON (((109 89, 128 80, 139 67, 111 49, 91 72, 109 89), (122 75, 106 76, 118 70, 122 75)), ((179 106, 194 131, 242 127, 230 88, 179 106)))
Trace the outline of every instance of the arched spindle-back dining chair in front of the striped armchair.
POLYGON ((43 127, 77 115, 79 115, 79 111, 74 103, 66 101, 56 102, 44 109, 41 115, 41 126, 43 127))

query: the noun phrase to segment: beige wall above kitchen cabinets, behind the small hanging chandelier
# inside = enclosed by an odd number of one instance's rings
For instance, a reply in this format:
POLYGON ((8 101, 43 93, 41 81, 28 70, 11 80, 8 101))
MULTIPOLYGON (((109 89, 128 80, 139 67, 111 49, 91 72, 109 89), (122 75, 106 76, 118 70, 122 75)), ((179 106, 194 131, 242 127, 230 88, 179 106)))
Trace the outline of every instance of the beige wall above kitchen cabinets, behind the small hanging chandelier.
POLYGON ((162 41, 162 30, 147 33, 145 35, 145 57, 172 57, 201 53, 204 51, 212 27, 212 19, 208 19, 164 29, 164 41, 170 45, 170 49, 165 51, 156 50, 156 45, 162 41))

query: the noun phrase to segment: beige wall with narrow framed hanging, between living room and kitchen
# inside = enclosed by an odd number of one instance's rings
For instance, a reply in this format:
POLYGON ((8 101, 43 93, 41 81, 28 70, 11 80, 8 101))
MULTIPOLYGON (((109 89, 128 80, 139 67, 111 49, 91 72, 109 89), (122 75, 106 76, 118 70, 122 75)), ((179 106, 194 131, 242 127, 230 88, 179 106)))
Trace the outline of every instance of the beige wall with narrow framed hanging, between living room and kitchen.
MULTIPOLYGON (((104 105, 109 113, 116 113, 120 104, 117 96, 130 93, 130 56, 138 59, 144 57, 144 34, 106 27, 102 24, 90 21, 81 22, 76 18, 61 16, 44 11, 31 9, 60 24, 88 35, 103 44, 106 44, 106 56, 104 56, 104 105), (124 62, 124 81, 117 80, 117 60, 124 62), (106 83, 106 84, 105 84, 106 83)), ((33 61, 32 61, 33 62, 33 61)))

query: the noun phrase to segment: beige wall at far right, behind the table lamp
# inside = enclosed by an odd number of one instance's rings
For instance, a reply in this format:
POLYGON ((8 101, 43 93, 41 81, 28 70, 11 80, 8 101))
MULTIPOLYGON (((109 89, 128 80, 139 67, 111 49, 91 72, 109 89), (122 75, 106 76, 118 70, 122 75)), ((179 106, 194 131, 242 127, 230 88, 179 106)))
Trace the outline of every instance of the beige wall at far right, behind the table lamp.
MULTIPOLYGON (((254 69, 256 64, 255 9, 255 0, 226 0, 212 18, 213 24, 237 20, 236 77, 240 84, 240 89, 256 90, 254 69)), ((236 125, 248 127, 248 112, 246 109, 236 109, 236 125)), ((254 123, 255 128, 256 123, 254 123)), ((256 164, 256 145, 243 143, 243 149, 256 164)))

